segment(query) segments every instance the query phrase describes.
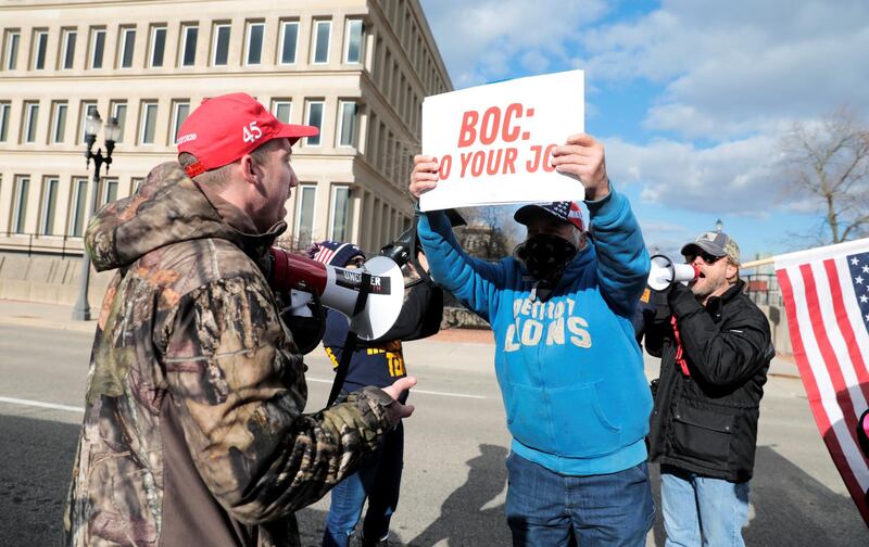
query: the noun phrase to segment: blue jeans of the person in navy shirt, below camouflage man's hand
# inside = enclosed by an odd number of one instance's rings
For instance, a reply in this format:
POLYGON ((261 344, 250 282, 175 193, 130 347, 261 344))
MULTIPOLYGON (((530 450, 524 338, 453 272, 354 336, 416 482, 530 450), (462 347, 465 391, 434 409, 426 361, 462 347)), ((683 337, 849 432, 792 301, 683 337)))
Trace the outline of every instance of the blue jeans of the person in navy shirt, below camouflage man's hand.
POLYGON ((399 422, 360 470, 332 488, 323 534, 324 547, 349 545, 366 497, 368 510, 362 523, 363 537, 376 542, 389 535, 389 521, 399 505, 403 466, 404 427, 399 422))

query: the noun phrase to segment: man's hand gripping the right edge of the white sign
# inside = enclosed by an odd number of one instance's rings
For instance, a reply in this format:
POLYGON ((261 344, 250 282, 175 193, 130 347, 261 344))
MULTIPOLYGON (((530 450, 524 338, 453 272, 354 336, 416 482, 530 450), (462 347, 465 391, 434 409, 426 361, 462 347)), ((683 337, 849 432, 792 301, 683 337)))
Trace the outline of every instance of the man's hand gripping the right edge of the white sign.
POLYGON ((585 188, 585 200, 596 201, 609 194, 604 145, 591 135, 578 133, 552 151, 552 165, 558 173, 579 179, 585 188))

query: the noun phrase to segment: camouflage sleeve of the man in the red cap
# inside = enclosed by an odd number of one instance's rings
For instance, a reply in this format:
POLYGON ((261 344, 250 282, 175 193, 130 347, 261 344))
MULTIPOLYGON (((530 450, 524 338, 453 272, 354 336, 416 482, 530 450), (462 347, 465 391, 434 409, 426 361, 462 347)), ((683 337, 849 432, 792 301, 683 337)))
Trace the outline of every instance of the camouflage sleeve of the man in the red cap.
POLYGON ((199 474, 238 520, 259 523, 319 499, 389 427, 370 387, 303 415, 304 365, 259 278, 184 296, 163 328, 174 409, 199 474))

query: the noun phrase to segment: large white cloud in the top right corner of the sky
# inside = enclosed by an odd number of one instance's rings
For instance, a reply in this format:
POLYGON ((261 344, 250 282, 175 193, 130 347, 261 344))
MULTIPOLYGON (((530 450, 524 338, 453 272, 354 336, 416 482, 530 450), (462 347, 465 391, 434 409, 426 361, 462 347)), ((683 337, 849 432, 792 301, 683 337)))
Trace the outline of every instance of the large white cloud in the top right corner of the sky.
POLYGON ((869 4, 860 0, 665 1, 637 22, 585 33, 582 43, 599 85, 663 85, 645 126, 689 139, 869 106, 869 4))

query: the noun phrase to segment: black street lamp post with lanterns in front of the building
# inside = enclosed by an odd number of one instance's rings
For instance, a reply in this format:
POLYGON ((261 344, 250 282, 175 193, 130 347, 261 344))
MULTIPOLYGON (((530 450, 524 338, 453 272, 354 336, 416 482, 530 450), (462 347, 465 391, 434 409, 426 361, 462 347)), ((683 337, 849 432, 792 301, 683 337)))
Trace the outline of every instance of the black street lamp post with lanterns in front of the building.
MULTIPOLYGON (((90 214, 97 211, 97 192, 100 188, 100 169, 105 164, 105 174, 109 175, 109 167, 112 165, 112 151, 115 149, 115 141, 117 140, 121 128, 117 126, 117 118, 109 118, 105 124, 105 156, 102 155, 102 150, 97 149, 93 153, 93 143, 97 142, 97 133, 102 127, 102 118, 100 113, 96 110, 88 114, 85 120, 85 157, 87 157, 87 166, 90 167, 90 161, 93 160, 93 185, 90 192, 90 214)), ((81 250, 81 272, 78 276, 78 300, 73 307, 73 319, 79 321, 90 320, 90 304, 88 304, 88 283, 90 283, 90 255, 88 255, 87 246, 83 241, 81 250)))

